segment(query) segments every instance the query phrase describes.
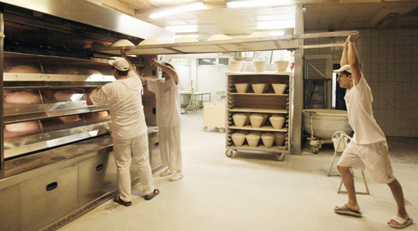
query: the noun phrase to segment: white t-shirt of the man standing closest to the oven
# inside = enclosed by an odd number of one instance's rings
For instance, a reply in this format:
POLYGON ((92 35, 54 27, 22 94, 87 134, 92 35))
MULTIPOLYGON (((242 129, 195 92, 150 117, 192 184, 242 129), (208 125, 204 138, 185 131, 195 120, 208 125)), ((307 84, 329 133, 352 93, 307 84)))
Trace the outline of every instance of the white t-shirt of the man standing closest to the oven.
POLYGON ((132 71, 127 77, 107 83, 91 95, 94 106, 109 104, 113 126, 111 136, 118 139, 133 138, 147 132, 141 79, 132 71))

